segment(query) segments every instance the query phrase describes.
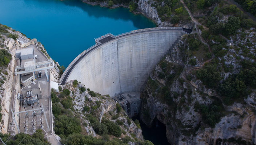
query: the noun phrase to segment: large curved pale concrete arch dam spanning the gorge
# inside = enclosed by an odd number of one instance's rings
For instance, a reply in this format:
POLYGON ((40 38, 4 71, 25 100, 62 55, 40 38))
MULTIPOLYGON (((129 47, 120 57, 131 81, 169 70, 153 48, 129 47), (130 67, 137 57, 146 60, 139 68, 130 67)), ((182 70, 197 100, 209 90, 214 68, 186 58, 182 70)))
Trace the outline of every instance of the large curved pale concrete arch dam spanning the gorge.
POLYGON ((79 54, 60 78, 78 80, 100 94, 140 91, 150 73, 183 34, 191 30, 162 27, 134 30, 117 36, 108 33, 79 54))

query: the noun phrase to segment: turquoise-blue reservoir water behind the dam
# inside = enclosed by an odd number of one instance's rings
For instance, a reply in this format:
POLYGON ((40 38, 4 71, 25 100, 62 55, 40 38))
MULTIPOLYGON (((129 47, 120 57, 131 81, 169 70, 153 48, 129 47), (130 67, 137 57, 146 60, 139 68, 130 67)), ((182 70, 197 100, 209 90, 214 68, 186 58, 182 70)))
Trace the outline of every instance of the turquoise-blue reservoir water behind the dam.
POLYGON ((126 8, 101 8, 79 0, 0 0, 0 23, 37 38, 65 67, 94 45, 94 38, 156 26, 126 8))

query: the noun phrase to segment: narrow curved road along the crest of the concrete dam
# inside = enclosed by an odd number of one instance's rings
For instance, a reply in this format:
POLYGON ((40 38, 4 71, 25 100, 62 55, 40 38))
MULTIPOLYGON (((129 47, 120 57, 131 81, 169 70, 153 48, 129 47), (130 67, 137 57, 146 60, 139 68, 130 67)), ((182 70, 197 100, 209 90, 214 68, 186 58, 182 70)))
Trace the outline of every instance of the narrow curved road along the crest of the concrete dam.
MULTIPOLYGON (((115 37, 115 38, 113 38, 112 40, 115 40, 115 39, 119 39, 119 38, 121 38, 121 37, 126 37, 126 36, 129 36, 129 35, 134 35, 134 34, 139 34, 139 33, 145 33, 145 32, 156 32, 156 31, 170 31, 170 30, 182 30, 184 33, 186 33, 186 34, 188 34, 188 31, 187 31, 187 29, 186 30, 183 30, 183 29, 153 29, 152 28, 152 30, 150 30, 150 29, 146 29, 146 30, 144 30, 144 31, 135 31, 135 32, 131 32, 131 33, 128 33, 128 34, 124 34, 124 35, 122 35, 122 36, 118 36, 118 37, 115 37)), ((111 40, 111 41, 112 41, 111 40)), ((104 41, 104 43, 107 43, 108 41, 104 41)), ((88 50, 88 51, 85 51, 85 53, 83 54, 83 55, 81 55, 73 64, 72 64, 72 66, 71 67, 69 67, 69 69, 68 70, 65 70, 65 72, 63 73, 63 75, 64 76, 62 76, 61 78, 63 78, 62 80, 61 80, 61 83, 60 84, 65 84, 65 82, 67 81, 67 79, 68 79, 68 76, 69 76, 69 74, 71 73, 71 71, 73 70, 73 68, 76 66, 76 64, 81 60, 81 59, 83 59, 87 54, 89 54, 91 51, 93 51, 94 49, 96 49, 97 47, 100 47, 101 45, 103 45, 104 43, 101 43, 101 44, 99 44, 99 45, 96 45, 96 46, 94 46, 92 49, 90 49, 90 50, 88 50)))

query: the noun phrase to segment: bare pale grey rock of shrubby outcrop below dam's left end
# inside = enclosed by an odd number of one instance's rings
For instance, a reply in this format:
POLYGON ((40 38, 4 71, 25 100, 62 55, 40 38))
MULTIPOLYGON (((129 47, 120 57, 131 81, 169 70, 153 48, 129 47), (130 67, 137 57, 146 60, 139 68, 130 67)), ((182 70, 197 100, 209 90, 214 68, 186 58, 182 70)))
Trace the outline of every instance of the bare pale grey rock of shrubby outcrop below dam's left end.
POLYGON ((99 137, 99 135, 96 134, 93 130, 90 121, 86 117, 86 115, 90 114, 90 112, 84 111, 84 107, 87 106, 89 108, 93 108, 95 106, 100 106, 96 108, 95 111, 93 111, 94 116, 97 117, 100 122, 103 118, 111 120, 113 122, 121 120, 123 122, 123 125, 119 126, 125 132, 122 133, 121 137, 129 136, 131 138, 136 137, 140 140, 143 140, 142 130, 138 128, 136 124, 128 118, 123 109, 121 109, 121 112, 119 113, 119 115, 117 115, 116 102, 112 98, 110 98, 109 96, 101 96, 99 94, 97 96, 91 96, 88 90, 81 92, 81 88, 85 88, 83 84, 79 83, 77 87, 74 87, 72 82, 73 81, 65 83, 65 85, 63 86, 60 85, 60 87, 63 89, 68 88, 71 91, 70 96, 72 96, 73 98, 73 107, 75 109, 75 113, 80 114, 81 124, 87 124, 82 125, 82 130, 84 130, 84 134, 91 135, 93 137, 99 137), (100 103, 100 105, 97 103, 100 103), (113 118, 113 116, 118 117, 113 118), (131 134, 135 136, 132 136, 131 134))

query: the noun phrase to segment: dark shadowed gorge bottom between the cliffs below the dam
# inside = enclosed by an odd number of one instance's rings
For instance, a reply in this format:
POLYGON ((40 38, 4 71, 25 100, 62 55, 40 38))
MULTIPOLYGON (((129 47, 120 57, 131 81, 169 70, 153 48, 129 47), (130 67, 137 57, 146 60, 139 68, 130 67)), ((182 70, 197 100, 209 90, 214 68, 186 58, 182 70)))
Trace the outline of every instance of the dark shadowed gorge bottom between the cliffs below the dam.
POLYGON ((147 127, 139 117, 132 118, 140 121, 142 134, 145 140, 151 141, 154 145, 171 145, 166 137, 166 127, 158 119, 154 119, 152 127, 147 127))

